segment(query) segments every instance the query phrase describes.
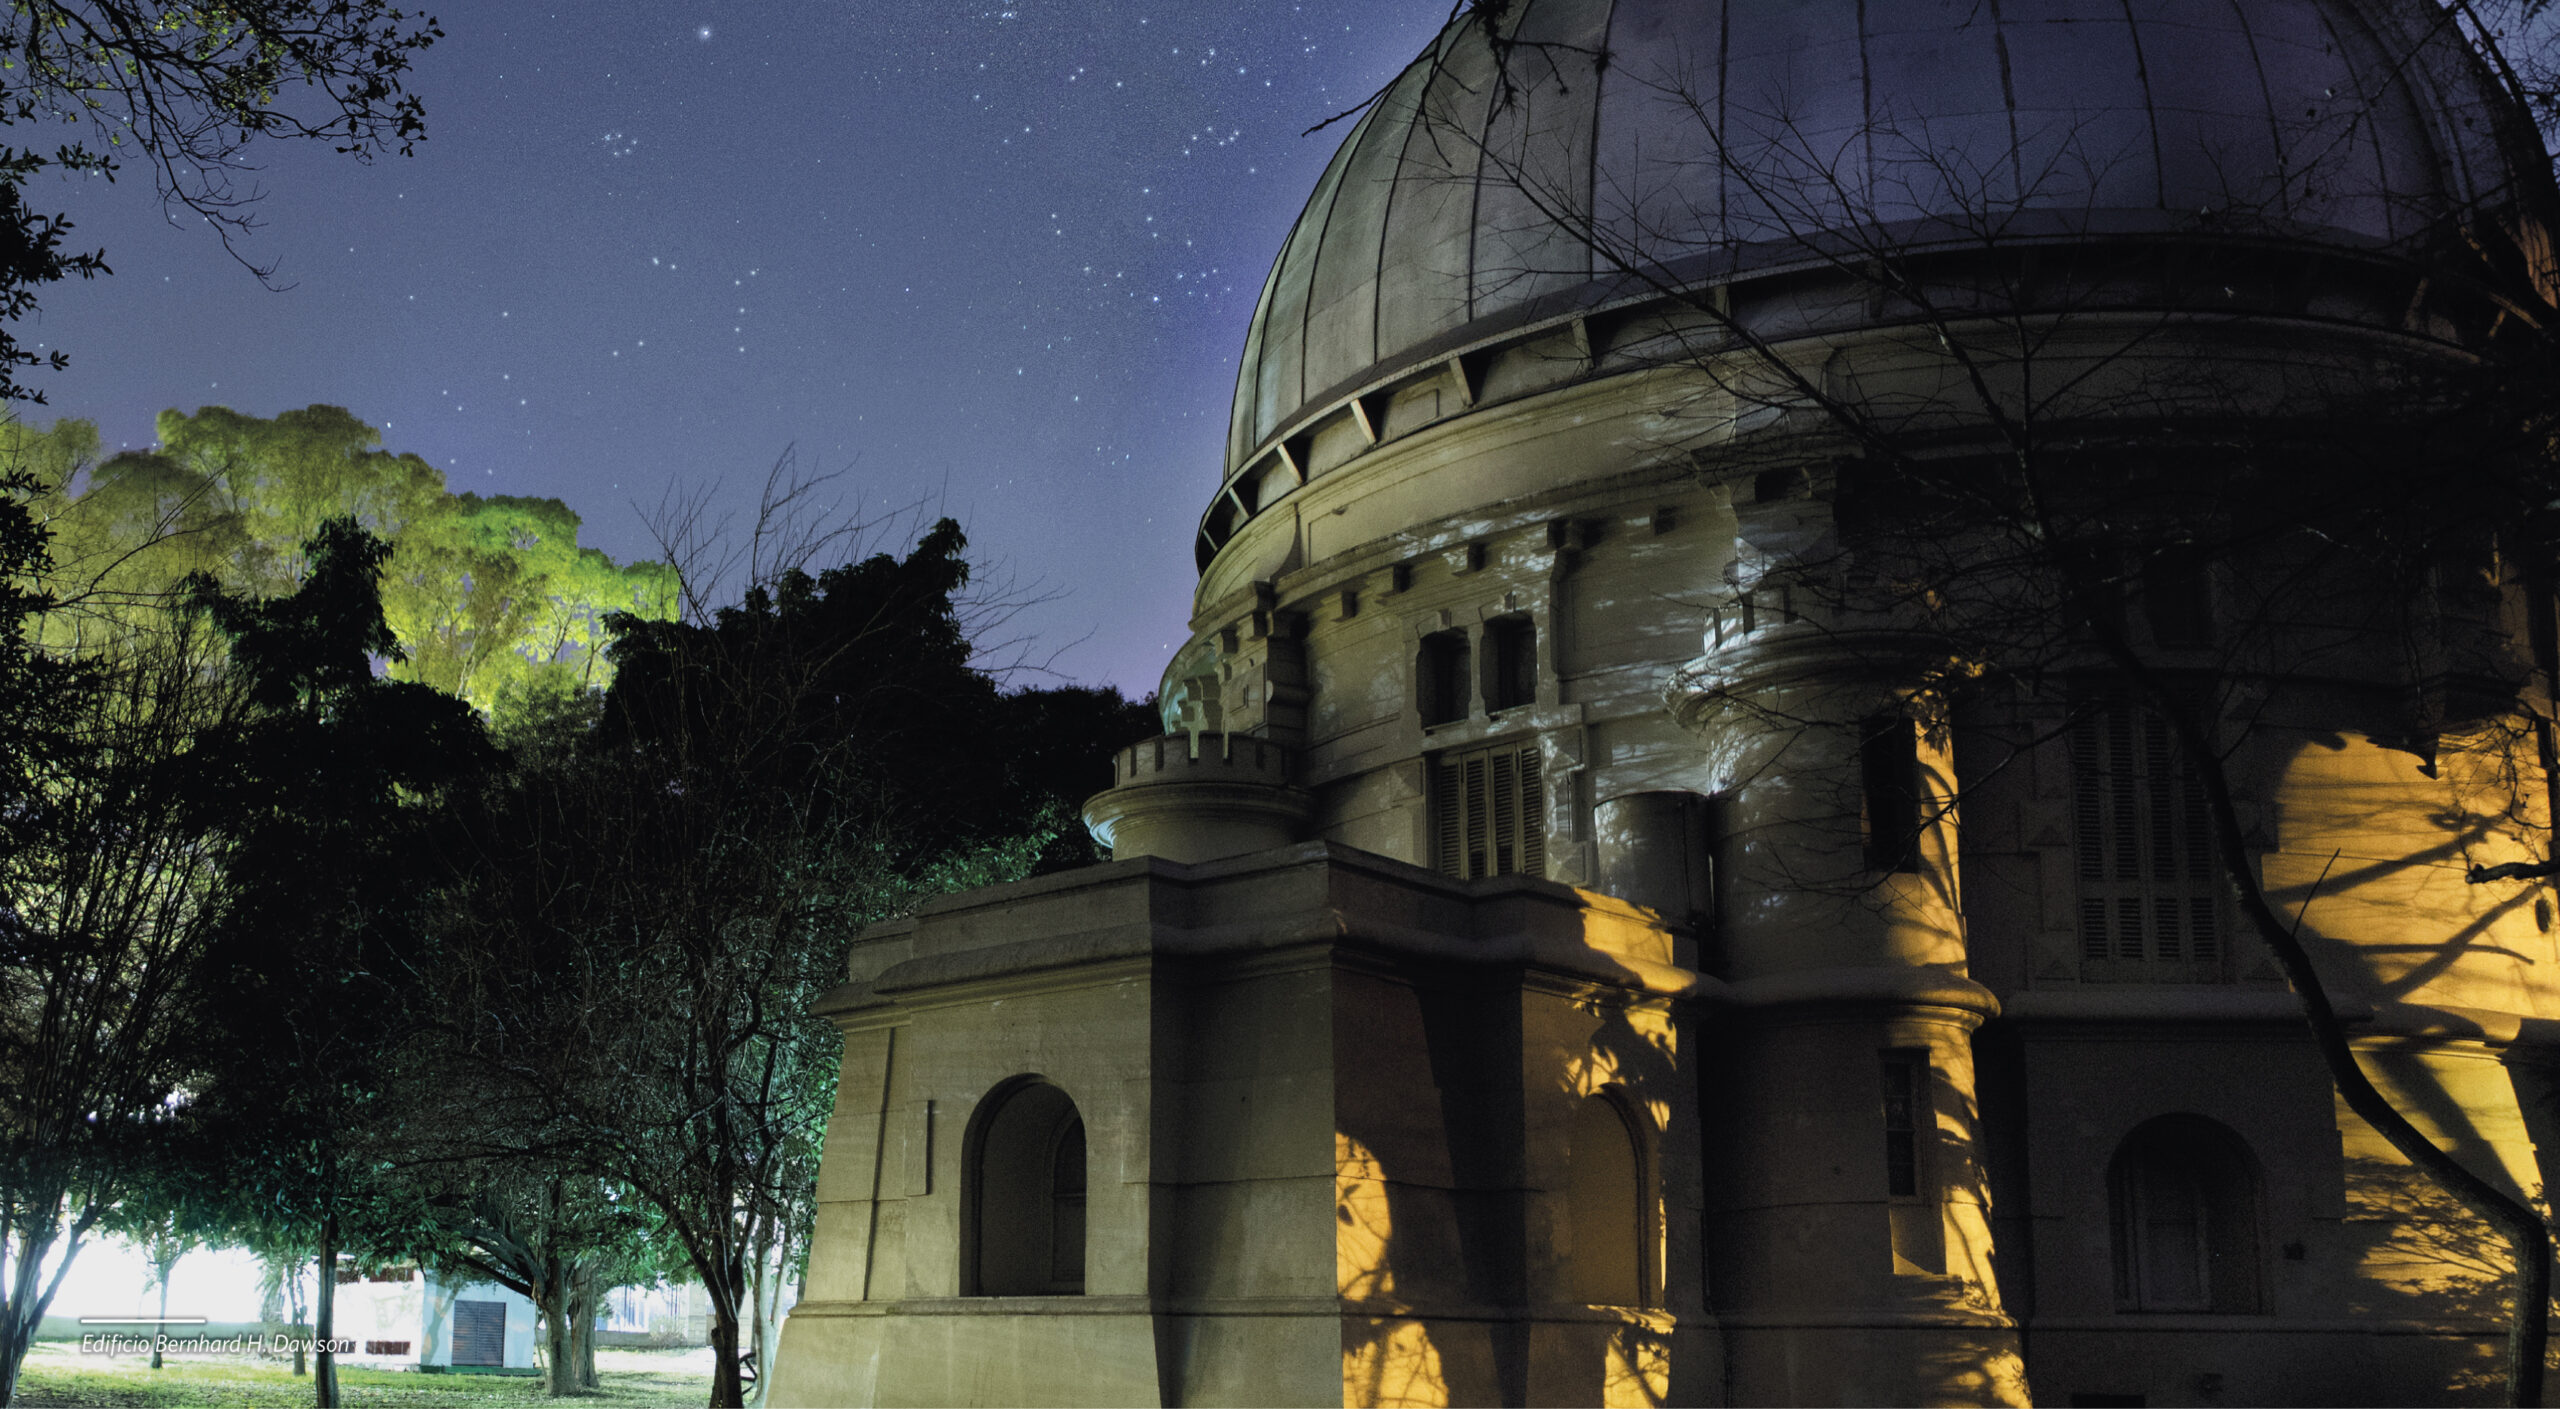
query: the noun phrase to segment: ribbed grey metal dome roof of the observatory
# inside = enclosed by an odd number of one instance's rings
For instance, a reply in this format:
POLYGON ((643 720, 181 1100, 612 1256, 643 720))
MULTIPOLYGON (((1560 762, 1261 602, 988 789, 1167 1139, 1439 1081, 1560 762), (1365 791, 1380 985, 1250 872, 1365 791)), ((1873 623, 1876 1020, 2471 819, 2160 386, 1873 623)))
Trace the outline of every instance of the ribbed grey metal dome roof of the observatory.
POLYGON ((1838 228, 2350 248, 2504 202, 2511 131, 2429 0, 1492 0, 1334 154, 1254 310, 1229 471, 1505 328, 1805 264, 1838 228), (1623 279, 1618 279, 1623 284, 1623 279))

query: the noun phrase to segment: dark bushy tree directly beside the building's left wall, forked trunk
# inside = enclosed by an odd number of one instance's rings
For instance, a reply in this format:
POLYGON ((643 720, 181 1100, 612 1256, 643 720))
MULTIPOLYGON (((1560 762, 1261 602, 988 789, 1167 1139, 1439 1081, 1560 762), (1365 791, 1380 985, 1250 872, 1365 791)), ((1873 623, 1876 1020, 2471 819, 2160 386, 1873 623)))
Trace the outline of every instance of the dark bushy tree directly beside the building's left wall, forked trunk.
POLYGON ((963 546, 945 520, 712 620, 617 617, 602 712, 522 738, 443 833, 456 1089, 484 1137, 650 1204, 712 1296, 714 1404, 742 1401, 750 1340, 768 1378, 806 1245, 837 1071, 809 1009, 845 938, 1027 874, 1065 827, 1047 751, 1096 769, 1144 730, 1116 697, 1024 702, 970 669, 963 546), (1009 730, 1039 720, 1111 738, 1009 730))

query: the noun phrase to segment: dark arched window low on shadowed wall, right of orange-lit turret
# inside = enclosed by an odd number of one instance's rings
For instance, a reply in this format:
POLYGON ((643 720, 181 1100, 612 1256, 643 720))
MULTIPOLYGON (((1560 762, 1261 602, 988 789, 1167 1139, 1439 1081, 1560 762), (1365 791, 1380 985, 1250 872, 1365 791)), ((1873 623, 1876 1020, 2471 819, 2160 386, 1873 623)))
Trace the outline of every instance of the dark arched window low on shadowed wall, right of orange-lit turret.
POLYGON ((2258 1163, 2225 1125, 2163 1114, 2107 1168, 2120 1312, 2258 1312, 2258 1163))

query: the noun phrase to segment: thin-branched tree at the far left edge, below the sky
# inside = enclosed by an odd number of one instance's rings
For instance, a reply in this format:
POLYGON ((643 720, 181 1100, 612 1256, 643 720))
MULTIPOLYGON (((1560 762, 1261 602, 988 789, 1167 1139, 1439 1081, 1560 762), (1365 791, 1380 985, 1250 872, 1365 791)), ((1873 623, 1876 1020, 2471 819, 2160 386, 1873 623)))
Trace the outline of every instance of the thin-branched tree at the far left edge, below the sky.
POLYGON ((192 981, 223 904, 197 751, 241 699, 200 633, 118 656, 36 648, 44 533, 0 497, 0 1404, 79 1248, 169 1158, 200 1073, 192 981))

